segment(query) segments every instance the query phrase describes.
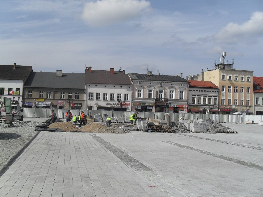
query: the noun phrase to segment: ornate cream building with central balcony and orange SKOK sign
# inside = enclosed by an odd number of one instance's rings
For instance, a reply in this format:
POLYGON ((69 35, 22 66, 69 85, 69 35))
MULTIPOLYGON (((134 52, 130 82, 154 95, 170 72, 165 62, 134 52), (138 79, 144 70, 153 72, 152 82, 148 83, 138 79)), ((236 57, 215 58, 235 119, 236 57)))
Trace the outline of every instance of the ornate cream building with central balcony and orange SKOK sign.
POLYGON ((181 76, 128 73, 132 82, 132 111, 185 112, 189 82, 181 76))

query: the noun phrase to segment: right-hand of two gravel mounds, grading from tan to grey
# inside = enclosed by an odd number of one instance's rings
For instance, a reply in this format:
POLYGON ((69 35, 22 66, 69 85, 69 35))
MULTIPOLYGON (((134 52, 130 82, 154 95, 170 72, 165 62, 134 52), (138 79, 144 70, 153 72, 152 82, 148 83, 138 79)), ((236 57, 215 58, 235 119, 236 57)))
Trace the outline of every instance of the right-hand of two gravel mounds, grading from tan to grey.
POLYGON ((95 122, 83 126, 81 131, 90 133, 129 133, 129 130, 122 129, 118 125, 105 126, 95 122))

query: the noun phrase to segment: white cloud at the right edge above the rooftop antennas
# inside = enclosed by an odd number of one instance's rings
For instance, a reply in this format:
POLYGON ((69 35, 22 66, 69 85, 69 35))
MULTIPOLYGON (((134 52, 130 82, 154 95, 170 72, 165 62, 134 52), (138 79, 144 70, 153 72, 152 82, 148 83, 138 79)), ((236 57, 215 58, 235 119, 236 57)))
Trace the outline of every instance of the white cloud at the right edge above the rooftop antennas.
POLYGON ((263 12, 254 12, 250 20, 239 25, 228 23, 213 38, 216 43, 256 43, 256 40, 263 36, 263 12))

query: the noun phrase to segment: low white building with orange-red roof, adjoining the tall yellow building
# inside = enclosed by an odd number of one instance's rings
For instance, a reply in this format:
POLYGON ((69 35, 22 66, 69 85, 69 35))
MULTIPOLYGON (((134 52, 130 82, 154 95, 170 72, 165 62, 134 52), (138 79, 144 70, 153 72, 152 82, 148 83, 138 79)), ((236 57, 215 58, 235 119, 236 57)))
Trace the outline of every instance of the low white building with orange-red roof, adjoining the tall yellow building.
POLYGON ((188 113, 219 113, 219 88, 210 81, 188 81, 188 113))

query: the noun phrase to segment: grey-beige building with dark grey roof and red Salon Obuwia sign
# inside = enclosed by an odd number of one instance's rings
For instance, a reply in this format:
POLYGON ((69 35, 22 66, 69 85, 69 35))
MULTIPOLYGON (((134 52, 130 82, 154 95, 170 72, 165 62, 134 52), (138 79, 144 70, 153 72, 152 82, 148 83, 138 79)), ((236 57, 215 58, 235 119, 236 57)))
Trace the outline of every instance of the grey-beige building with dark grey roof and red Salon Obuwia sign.
POLYGON ((85 109, 84 73, 31 72, 24 84, 24 107, 85 109))

